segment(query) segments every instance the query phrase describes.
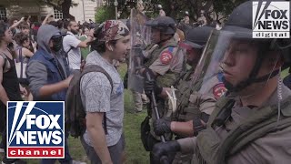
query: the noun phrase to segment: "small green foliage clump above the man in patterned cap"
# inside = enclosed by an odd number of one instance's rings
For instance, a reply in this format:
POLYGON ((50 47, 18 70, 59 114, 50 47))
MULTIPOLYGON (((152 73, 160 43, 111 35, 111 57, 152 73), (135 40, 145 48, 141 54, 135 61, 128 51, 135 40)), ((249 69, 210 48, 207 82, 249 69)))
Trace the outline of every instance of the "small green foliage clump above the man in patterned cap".
POLYGON ((115 6, 104 5, 98 7, 95 12, 95 22, 101 24, 108 19, 115 19, 115 6))

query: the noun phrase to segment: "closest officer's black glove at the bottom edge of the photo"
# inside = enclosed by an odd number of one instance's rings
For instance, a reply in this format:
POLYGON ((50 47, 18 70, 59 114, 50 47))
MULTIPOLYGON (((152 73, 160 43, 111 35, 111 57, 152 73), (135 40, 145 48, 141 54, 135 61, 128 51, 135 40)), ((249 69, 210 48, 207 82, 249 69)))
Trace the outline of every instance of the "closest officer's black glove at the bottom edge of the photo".
POLYGON ((157 143, 153 149, 153 159, 155 163, 172 163, 176 152, 180 151, 180 149, 181 146, 176 140, 157 143))

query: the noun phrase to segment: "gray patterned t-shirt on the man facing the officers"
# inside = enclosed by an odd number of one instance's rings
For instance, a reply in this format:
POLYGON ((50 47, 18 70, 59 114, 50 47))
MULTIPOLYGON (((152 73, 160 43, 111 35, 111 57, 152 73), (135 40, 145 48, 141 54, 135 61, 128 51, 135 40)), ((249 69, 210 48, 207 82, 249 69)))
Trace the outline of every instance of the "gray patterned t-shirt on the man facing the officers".
MULTIPOLYGON (((114 88, 111 92, 111 85, 103 73, 91 72, 85 74, 81 79, 81 98, 85 111, 105 112, 107 131, 107 146, 115 145, 123 131, 124 118, 124 84, 115 67, 107 62, 96 51, 86 57, 87 65, 98 65, 103 67, 112 78, 114 88)), ((87 131, 84 134, 85 142, 93 146, 87 131)))

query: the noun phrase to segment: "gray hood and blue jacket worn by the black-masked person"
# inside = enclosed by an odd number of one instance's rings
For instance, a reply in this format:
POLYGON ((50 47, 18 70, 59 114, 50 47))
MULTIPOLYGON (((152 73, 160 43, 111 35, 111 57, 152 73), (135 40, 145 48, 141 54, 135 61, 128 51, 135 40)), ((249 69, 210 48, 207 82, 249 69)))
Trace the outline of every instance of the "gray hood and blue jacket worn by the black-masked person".
MULTIPOLYGON (((53 64, 53 68, 56 70, 55 78, 57 76, 62 77, 59 81, 64 80, 65 77, 68 76, 68 69, 66 67, 65 57, 62 53, 53 53, 50 50, 49 42, 52 36, 60 34, 60 31, 51 25, 44 25, 38 29, 37 32, 37 44, 38 50, 35 52, 35 55, 31 57, 28 65, 26 67, 26 77, 29 80, 29 88, 35 99, 42 99, 42 100, 65 100, 63 98, 59 99, 59 96, 52 96, 47 97, 39 97, 39 89, 45 85, 52 84, 52 80, 48 79, 52 77, 51 74, 48 74, 48 67, 47 64, 53 64), (61 67, 58 67, 57 62, 60 64, 61 67), (59 69, 63 69, 65 75, 61 75, 59 69)), ((55 81, 59 82, 59 81, 55 81)), ((63 96, 62 96, 63 97, 63 96)))

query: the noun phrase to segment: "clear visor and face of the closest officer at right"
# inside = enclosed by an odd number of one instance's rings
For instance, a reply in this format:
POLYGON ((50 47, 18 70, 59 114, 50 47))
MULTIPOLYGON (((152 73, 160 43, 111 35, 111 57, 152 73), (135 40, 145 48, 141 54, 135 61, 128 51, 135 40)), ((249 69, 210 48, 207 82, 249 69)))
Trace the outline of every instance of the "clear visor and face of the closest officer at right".
MULTIPOLYGON (((229 91, 239 92, 241 96, 246 96, 246 93, 244 93, 244 89, 238 88, 245 88, 253 83, 266 83, 272 77, 271 74, 276 72, 274 70, 278 60, 276 56, 268 56, 266 59, 268 50, 262 51, 262 49, 268 46, 268 43, 270 42, 267 39, 250 38, 249 33, 214 30, 196 67, 196 83, 202 83, 199 92, 205 94, 205 88, 209 88, 211 80, 224 83, 226 88, 230 89, 229 91), (265 52, 263 59, 259 57, 262 52, 265 52), (274 57, 274 66, 266 67, 263 62, 272 57, 274 57), (255 77, 252 77, 254 68, 258 66, 258 63, 260 65, 257 67, 255 77)), ((264 87, 264 85, 258 86, 264 87)), ((247 94, 251 94, 251 91, 248 90, 247 94)))

